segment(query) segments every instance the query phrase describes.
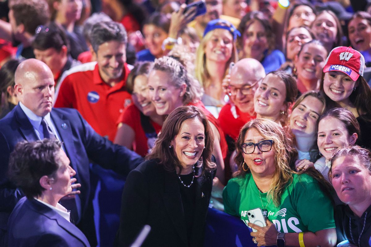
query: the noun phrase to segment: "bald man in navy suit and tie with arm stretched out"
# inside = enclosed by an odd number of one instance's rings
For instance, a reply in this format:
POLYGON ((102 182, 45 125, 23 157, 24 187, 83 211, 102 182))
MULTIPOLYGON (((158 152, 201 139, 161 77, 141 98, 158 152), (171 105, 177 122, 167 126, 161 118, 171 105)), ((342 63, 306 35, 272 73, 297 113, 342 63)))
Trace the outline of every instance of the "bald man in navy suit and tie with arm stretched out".
MULTIPOLYGON (((0 120, 0 230, 6 230, 10 212, 23 197, 22 191, 7 177, 10 152, 19 141, 40 140, 45 137, 46 132, 52 131, 62 141, 62 148, 76 171, 75 177, 81 183, 81 194, 76 195, 73 200, 62 198, 61 204, 71 209, 75 223, 88 236, 95 231, 92 216, 85 214, 89 209, 89 160, 125 176, 141 163, 142 158, 99 136, 78 111, 53 109, 53 74, 42 61, 23 61, 16 70, 15 83, 14 88, 20 103, 0 120), (42 124, 45 121, 46 128, 42 124), (84 230, 85 228, 89 229, 84 230)), ((89 238, 89 241, 93 238, 89 238)))

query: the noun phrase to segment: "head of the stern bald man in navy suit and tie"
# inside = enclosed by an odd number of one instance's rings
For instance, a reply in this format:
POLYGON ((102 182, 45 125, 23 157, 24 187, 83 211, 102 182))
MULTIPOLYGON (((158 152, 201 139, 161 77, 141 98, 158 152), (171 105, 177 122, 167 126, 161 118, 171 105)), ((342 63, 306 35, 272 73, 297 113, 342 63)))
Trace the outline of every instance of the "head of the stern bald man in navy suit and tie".
POLYGON ((19 64, 14 75, 19 101, 37 116, 52 110, 54 77, 49 67, 40 60, 27 59, 19 64))

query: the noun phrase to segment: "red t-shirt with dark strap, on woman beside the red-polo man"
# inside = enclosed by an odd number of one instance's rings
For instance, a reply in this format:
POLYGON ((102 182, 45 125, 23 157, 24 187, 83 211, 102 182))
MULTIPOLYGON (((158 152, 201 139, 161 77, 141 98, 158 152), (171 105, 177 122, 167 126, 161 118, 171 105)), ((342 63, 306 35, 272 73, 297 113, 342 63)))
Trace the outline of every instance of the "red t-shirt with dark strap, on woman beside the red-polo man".
MULTIPOLYGON (((133 150, 135 153, 144 157, 148 153, 148 138, 145 136, 141 124, 139 109, 134 104, 131 104, 121 113, 117 123, 127 124, 134 130, 135 140, 133 143, 133 150)), ((156 133, 160 133, 162 126, 152 120, 150 120, 150 123, 155 129, 156 133)))

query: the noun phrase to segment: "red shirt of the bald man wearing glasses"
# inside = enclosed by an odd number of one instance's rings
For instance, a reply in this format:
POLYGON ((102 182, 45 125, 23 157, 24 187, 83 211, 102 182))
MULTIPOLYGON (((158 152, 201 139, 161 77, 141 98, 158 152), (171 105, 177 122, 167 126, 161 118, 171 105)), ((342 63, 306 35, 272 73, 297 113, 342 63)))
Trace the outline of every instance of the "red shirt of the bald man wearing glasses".
POLYGON ((236 110, 236 113, 233 114, 231 108, 232 104, 230 103, 223 106, 220 110, 218 120, 224 134, 232 137, 233 140, 237 140, 242 126, 248 121, 255 119, 255 116, 251 116, 249 113, 243 113, 234 106, 233 108, 236 110))

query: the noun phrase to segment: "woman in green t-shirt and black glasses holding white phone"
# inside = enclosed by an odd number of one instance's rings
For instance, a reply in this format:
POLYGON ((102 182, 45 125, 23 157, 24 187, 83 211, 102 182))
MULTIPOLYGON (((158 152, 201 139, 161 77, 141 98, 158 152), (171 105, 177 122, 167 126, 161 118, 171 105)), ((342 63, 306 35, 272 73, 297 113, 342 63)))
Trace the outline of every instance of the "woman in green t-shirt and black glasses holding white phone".
POLYGON ((251 236, 258 246, 334 246, 334 210, 321 190, 328 184, 312 168, 292 171, 294 154, 279 124, 266 119, 245 124, 237 140, 239 170, 223 191, 224 210, 257 230, 251 236), (262 209, 266 227, 249 223, 247 211, 254 208, 262 209))

